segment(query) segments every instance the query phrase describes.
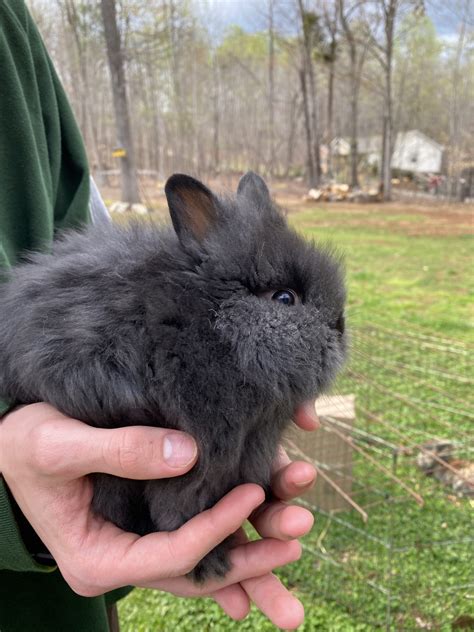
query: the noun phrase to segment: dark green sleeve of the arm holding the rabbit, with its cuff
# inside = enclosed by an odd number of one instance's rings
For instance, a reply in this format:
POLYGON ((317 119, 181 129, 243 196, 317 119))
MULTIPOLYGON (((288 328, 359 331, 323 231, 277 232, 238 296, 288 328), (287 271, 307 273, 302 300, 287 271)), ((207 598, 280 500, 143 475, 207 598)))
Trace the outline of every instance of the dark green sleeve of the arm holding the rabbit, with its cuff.
MULTIPOLYGON (((58 228, 89 222, 80 132, 23 0, 0 0, 0 275, 58 228)), ((0 393, 1 398, 1 393, 0 393)), ((9 402, 0 399, 0 416, 9 402)), ((50 571, 20 537, 0 477, 0 569, 50 571)))

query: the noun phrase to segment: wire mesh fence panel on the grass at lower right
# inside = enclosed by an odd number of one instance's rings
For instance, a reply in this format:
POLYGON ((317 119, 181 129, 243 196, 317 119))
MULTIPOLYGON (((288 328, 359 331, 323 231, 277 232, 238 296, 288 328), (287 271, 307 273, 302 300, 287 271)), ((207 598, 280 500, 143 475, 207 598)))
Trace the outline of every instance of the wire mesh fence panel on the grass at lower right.
POLYGON ((473 350, 359 327, 314 443, 289 437, 320 472, 298 583, 361 629, 474 628, 473 350))

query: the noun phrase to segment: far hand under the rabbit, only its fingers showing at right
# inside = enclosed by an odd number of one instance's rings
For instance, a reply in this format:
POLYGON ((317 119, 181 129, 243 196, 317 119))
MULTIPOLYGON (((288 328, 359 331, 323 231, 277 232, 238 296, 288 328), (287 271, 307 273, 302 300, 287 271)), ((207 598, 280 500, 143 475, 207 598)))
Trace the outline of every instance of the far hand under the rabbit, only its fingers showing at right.
MULTIPOLYGON (((320 424, 314 401, 301 406, 295 413, 294 421, 304 430, 316 430, 320 424)), ((273 573, 257 573, 253 577, 239 579, 245 573, 247 564, 255 568, 254 563, 260 563, 263 568, 265 560, 261 556, 265 542, 272 541, 272 546, 278 541, 281 544, 291 544, 295 547, 294 559, 297 559, 300 545, 296 539, 308 533, 313 526, 311 512, 282 501, 291 500, 312 487, 316 480, 314 467, 304 461, 292 462, 280 448, 273 464, 273 472, 272 491, 279 500, 263 503, 250 516, 250 521, 264 539, 249 543, 244 531, 238 530, 236 541, 239 546, 231 551, 232 570, 224 581, 211 580, 203 586, 196 586, 185 577, 177 577, 154 583, 150 587, 182 597, 212 597, 234 619, 245 618, 253 602, 278 628, 293 629, 301 625, 304 619, 302 604, 273 573), (241 556, 243 551, 244 557, 241 556)))

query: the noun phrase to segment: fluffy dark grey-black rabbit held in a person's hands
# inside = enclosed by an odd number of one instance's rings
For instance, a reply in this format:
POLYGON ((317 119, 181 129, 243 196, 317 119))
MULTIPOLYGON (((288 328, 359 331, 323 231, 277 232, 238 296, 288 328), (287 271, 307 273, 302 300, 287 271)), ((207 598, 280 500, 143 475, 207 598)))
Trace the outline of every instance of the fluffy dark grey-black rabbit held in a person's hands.
MULTIPOLYGON (((295 408, 346 354, 341 265, 288 228, 255 174, 234 198, 188 176, 166 194, 174 230, 110 224, 65 234, 0 288, 0 393, 91 425, 193 435, 184 476, 94 475, 95 511, 127 531, 180 527, 240 483, 269 492, 295 408), (292 290, 295 305, 275 299, 292 290)), ((226 540, 191 573, 229 569, 226 540)))

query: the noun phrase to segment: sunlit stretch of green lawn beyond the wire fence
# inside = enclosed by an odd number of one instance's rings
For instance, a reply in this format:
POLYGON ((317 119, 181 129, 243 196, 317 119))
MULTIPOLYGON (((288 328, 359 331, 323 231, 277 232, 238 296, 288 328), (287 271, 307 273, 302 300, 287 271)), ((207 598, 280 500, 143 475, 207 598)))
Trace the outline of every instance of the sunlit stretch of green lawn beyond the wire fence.
MULTIPOLYGON (((373 214, 370 218, 373 222, 373 214)), ((380 225, 367 228, 360 225, 361 218, 347 227, 347 214, 322 217, 319 212, 312 217, 305 212, 292 220, 306 235, 334 243, 343 253, 353 322, 408 322, 464 338, 472 332, 472 237, 409 236, 391 227, 403 218, 385 218, 382 211, 380 225)))

